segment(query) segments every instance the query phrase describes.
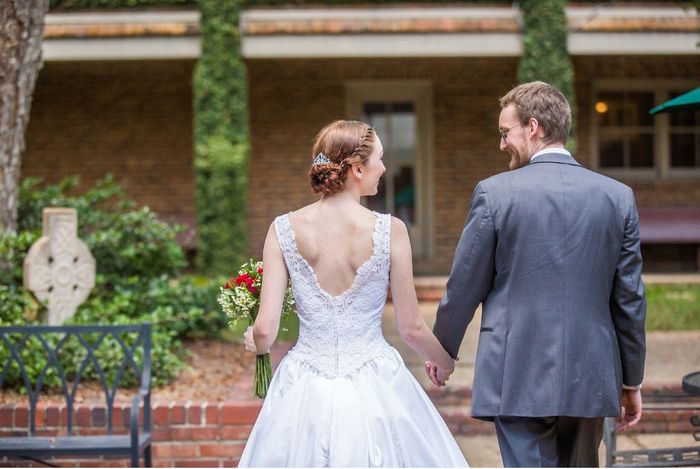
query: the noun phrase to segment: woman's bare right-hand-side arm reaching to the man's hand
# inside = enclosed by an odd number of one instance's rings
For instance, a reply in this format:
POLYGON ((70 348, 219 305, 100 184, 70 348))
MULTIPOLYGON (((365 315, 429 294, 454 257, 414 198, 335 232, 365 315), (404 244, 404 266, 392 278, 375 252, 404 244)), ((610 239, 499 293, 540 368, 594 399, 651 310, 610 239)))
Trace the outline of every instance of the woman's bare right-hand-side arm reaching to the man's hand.
POLYGON ((442 348, 418 310, 411 241, 406 225, 394 217, 391 219, 390 286, 401 338, 438 367, 451 371, 454 360, 442 348))

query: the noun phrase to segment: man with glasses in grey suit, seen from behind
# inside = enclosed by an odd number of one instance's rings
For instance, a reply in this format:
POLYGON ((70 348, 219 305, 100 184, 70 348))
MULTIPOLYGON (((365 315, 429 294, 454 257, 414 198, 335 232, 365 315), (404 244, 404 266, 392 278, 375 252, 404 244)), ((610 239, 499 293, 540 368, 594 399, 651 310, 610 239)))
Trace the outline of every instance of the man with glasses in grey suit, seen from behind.
MULTIPOLYGON (((646 300, 632 190, 564 149, 571 108, 533 82, 500 100, 512 171, 477 184, 434 332, 457 357, 483 304, 472 416, 505 466, 598 466, 603 418, 642 413, 646 300)), ((436 384, 449 373, 426 364, 436 384)))

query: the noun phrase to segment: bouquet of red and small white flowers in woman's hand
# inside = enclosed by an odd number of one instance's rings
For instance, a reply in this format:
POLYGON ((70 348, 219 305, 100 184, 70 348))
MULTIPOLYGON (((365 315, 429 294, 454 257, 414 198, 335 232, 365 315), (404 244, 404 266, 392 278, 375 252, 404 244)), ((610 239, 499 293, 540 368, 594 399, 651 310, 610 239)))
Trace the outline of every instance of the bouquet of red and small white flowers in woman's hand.
MULTIPOLYGON (((229 318, 229 327, 238 321, 245 320, 248 325, 255 322, 260 309, 260 289, 263 281, 263 265, 261 261, 250 259, 238 271, 238 277, 231 277, 226 285, 221 287, 218 302, 229 318)), ((282 314, 294 313, 294 296, 292 289, 287 287, 282 303, 282 314)), ((255 358, 255 380, 253 393, 260 398, 267 394, 267 388, 272 379, 270 354, 258 355, 255 358)))

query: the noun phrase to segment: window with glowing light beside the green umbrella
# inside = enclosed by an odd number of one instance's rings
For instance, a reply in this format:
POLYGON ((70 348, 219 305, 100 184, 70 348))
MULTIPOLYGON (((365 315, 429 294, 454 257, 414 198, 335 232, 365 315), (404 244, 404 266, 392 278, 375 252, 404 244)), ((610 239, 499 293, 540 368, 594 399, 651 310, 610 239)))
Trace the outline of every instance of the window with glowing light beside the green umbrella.
POLYGON ((653 107, 692 88, 619 82, 599 85, 592 134, 597 167, 621 177, 700 175, 700 112, 649 114, 653 107))

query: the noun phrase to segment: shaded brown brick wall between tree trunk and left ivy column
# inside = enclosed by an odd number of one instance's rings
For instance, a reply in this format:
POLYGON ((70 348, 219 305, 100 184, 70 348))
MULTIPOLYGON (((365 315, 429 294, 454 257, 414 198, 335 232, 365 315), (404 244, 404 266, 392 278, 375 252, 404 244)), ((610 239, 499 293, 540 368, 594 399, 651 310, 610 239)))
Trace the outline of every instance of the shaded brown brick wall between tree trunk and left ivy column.
POLYGON ((114 174, 138 203, 194 219, 194 61, 48 62, 39 74, 22 177, 83 188, 114 174))

